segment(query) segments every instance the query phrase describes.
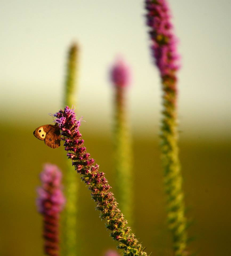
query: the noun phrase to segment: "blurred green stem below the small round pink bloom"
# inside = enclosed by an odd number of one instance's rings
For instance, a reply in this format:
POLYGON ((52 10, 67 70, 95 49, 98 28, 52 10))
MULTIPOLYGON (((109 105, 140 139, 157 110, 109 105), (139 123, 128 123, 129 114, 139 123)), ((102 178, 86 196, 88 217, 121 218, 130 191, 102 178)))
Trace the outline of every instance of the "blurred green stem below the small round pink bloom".
POLYGON ((131 180, 131 142, 127 127, 125 91, 127 88, 116 87, 115 90, 115 177, 119 208, 131 225, 132 218, 132 180, 131 180))

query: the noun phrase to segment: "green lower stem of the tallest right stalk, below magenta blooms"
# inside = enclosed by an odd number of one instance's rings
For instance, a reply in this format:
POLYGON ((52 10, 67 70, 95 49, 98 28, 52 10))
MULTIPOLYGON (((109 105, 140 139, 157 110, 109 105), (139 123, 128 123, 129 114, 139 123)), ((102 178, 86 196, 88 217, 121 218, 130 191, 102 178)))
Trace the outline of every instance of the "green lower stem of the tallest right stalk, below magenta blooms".
POLYGON ((186 218, 182 175, 180 171, 177 132, 177 89, 175 75, 162 77, 163 118, 161 150, 164 167, 164 185, 167 193, 168 225, 173 235, 175 256, 187 255, 186 218))

